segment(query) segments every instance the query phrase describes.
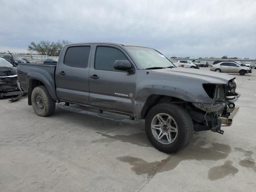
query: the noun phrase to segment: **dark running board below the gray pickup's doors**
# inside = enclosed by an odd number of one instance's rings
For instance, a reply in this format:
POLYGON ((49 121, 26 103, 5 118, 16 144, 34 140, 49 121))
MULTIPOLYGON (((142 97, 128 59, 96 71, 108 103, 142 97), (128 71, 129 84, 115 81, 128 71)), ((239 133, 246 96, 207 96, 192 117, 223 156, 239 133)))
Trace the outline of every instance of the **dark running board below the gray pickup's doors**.
POLYGON ((70 106, 66 106, 66 105, 62 105, 62 104, 57 104, 57 107, 60 109, 71 111, 71 112, 77 112, 77 113, 91 115, 91 116, 100 117, 100 118, 104 118, 104 119, 110 119, 110 120, 118 121, 121 123, 126 123, 126 124, 131 124, 131 125, 140 124, 139 120, 126 119, 126 118, 123 118, 118 115, 102 113, 102 111, 96 113, 96 112, 91 112, 88 110, 83 110, 80 108, 70 107, 70 106))

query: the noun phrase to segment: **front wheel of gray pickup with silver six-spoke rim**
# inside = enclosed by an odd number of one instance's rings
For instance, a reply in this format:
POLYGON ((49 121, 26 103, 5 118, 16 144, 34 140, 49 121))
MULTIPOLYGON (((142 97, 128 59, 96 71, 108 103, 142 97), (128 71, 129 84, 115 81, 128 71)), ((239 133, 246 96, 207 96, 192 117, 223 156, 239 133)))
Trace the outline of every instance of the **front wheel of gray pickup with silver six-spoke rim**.
POLYGON ((190 115, 183 108, 172 103, 161 103, 149 110, 145 120, 145 130, 148 140, 155 148, 165 153, 175 153, 188 146, 194 133, 194 126, 190 115), (170 124, 166 127, 159 127, 162 123, 160 123, 158 115, 162 115, 162 118, 166 116, 165 120, 170 116, 172 118, 170 124), (152 125, 157 126, 157 128, 152 128, 152 125), (169 128, 169 125, 172 128, 169 128), (176 132, 173 129, 175 127, 176 132), (157 137, 160 136, 161 131, 163 134, 164 130, 167 130, 165 131, 166 135, 158 139, 157 137), (170 133, 170 130, 174 132, 171 131, 170 133), (168 140, 167 135, 171 141, 168 140))

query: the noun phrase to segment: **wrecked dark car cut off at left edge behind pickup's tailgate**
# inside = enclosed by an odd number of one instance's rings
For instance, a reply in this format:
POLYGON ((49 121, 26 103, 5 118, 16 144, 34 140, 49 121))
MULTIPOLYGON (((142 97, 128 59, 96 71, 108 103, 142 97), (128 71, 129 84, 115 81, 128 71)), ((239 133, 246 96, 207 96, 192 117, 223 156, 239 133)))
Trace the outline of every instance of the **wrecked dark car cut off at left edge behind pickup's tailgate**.
POLYGON ((18 88, 17 80, 17 67, 0 57, 0 99, 12 97, 10 101, 14 101, 24 95, 18 88))

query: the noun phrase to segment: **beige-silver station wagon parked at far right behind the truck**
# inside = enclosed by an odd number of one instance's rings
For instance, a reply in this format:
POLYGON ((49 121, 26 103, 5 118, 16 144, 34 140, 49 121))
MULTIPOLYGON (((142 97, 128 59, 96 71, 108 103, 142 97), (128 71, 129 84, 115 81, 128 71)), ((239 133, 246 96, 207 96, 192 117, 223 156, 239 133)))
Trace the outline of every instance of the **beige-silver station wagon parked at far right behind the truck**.
POLYGON ((231 61, 222 61, 218 62, 217 64, 213 64, 210 70, 223 73, 239 73, 240 75, 252 72, 250 68, 240 66, 238 63, 231 61))

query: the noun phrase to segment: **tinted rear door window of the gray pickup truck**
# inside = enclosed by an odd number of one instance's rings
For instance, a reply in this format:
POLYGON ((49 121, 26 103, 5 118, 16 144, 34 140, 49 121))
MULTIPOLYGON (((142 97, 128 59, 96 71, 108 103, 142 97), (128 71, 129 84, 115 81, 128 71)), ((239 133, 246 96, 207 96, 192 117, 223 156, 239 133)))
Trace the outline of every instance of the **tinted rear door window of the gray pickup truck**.
POLYGON ((64 64, 70 67, 86 68, 90 49, 90 46, 69 47, 66 51, 64 64))

